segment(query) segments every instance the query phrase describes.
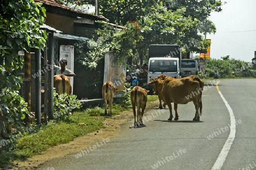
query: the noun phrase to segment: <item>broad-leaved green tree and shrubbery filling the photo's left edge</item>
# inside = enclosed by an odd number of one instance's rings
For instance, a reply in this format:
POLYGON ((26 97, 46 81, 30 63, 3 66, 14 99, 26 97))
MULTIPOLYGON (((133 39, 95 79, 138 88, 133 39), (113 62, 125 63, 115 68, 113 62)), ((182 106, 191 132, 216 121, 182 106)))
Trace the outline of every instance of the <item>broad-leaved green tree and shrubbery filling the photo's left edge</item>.
POLYGON ((18 90, 24 64, 18 52, 43 48, 46 32, 43 25, 46 10, 33 0, 0 0, 0 107, 7 122, 16 127, 28 112, 27 103, 18 90))

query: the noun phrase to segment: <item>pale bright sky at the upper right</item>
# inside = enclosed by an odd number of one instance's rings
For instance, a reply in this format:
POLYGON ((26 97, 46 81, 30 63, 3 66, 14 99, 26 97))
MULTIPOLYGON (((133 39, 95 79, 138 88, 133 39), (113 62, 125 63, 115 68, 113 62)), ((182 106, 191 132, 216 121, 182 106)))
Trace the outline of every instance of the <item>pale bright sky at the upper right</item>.
POLYGON ((256 0, 226 0, 221 12, 212 12, 210 20, 216 25, 211 39, 210 58, 221 57, 251 62, 256 51, 256 0))

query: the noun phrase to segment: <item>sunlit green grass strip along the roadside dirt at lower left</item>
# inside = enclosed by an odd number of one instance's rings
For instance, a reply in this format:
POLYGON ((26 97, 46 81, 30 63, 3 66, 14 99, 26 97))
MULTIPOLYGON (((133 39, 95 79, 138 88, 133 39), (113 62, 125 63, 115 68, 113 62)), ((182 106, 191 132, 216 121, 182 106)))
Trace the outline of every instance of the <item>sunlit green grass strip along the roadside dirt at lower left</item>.
POLYGON ((75 112, 69 122, 49 122, 37 133, 19 138, 14 146, 14 154, 18 159, 28 158, 49 147, 73 141, 76 137, 104 128, 102 120, 102 117, 90 116, 85 112, 75 112))

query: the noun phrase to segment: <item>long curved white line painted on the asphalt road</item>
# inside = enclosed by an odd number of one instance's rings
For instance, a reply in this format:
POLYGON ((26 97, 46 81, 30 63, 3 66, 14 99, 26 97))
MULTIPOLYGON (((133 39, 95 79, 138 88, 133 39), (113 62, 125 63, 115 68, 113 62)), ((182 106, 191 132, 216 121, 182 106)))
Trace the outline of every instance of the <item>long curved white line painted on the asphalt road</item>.
POLYGON ((221 169, 222 165, 224 164, 226 160, 226 156, 228 156, 228 152, 230 150, 230 147, 234 141, 234 138, 236 136, 236 119, 234 117, 234 113, 232 111, 232 108, 228 104, 228 101, 224 98, 224 96, 221 94, 220 90, 218 90, 218 84, 216 84, 216 88, 218 91, 218 94, 220 94, 222 100, 224 101, 226 108, 228 108, 229 111, 229 116, 230 116, 230 133, 229 137, 225 142, 225 145, 222 147, 222 150, 220 152, 220 155, 218 155, 218 158, 216 162, 214 163, 212 170, 213 169, 221 169))

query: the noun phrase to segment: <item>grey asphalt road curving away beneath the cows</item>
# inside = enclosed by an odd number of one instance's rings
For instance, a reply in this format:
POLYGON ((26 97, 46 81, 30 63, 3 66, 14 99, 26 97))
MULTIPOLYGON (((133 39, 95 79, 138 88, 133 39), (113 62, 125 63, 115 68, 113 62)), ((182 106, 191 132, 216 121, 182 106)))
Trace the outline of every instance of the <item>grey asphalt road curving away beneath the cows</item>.
POLYGON ((205 87, 199 122, 192 121, 192 103, 178 105, 179 121, 167 121, 168 109, 152 109, 145 113, 145 126, 131 129, 129 121, 118 137, 102 139, 40 169, 255 168, 256 79, 221 80, 220 92, 212 82, 205 87))

